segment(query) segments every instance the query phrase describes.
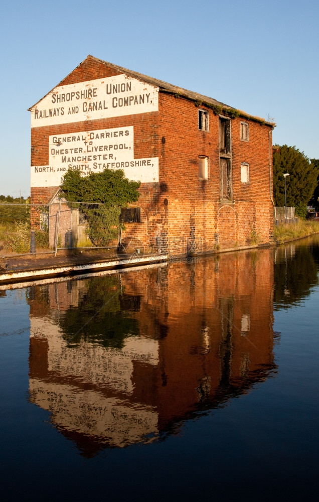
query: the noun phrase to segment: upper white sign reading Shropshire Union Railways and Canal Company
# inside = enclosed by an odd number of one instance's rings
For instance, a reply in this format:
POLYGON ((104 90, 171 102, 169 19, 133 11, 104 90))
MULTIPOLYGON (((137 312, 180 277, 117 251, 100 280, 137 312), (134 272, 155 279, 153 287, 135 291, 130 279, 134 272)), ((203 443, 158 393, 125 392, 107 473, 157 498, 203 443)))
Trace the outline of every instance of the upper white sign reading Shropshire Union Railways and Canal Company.
POLYGON ((127 75, 55 87, 31 108, 31 127, 158 110, 158 87, 127 75))

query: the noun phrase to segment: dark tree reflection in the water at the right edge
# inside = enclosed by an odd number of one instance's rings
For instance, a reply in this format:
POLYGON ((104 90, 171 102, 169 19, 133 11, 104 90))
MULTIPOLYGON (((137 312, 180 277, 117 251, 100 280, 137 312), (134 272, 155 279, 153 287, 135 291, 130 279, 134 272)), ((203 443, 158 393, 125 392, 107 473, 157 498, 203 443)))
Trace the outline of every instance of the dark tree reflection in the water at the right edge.
POLYGON ((298 303, 317 283, 317 266, 311 249, 299 247, 294 256, 289 247, 281 248, 281 259, 274 264, 274 304, 276 308, 298 303))

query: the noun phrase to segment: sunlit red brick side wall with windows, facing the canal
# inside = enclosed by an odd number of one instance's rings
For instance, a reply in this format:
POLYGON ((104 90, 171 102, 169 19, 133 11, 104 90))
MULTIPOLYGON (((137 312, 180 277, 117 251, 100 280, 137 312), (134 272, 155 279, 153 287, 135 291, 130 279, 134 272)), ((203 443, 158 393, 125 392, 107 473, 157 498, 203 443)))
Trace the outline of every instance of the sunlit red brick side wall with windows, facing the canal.
POLYGON ((158 137, 166 140, 159 146, 160 180, 167 184, 169 238, 174 242, 174 252, 178 252, 177 235, 183 237, 181 253, 189 247, 185 242, 194 239, 203 250, 214 249, 217 244, 229 248, 269 242, 273 231, 269 126, 245 119, 249 142, 244 142, 240 140, 243 119, 231 121, 233 202, 221 204, 219 117, 205 106, 201 109, 209 112, 209 131, 198 129, 198 107, 192 101, 159 94, 158 137), (208 181, 198 177, 199 155, 209 157, 208 181), (242 162, 249 164, 249 184, 241 183, 242 162))

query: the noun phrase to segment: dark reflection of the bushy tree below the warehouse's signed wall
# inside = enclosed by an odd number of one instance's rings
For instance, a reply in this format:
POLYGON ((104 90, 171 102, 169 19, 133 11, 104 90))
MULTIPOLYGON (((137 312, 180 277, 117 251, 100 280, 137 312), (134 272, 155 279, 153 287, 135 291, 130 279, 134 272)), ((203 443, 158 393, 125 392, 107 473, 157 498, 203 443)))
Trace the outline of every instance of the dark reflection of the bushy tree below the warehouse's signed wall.
POLYGON ((123 297, 118 275, 91 279, 78 306, 60 316, 64 337, 70 343, 85 339, 104 347, 122 347, 128 335, 138 334, 136 319, 123 310, 123 297))

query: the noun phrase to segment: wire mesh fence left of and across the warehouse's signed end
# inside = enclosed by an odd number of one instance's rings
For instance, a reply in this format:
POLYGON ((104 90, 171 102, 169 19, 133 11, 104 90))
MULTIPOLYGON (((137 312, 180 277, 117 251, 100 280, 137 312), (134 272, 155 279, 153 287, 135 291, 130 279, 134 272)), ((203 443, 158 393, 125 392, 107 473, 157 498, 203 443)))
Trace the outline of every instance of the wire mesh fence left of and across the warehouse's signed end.
POLYGON ((0 204, 0 257, 116 247, 119 215, 96 203, 0 204))

